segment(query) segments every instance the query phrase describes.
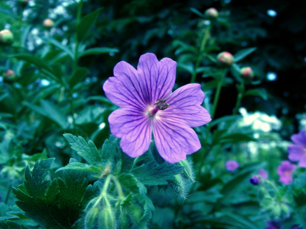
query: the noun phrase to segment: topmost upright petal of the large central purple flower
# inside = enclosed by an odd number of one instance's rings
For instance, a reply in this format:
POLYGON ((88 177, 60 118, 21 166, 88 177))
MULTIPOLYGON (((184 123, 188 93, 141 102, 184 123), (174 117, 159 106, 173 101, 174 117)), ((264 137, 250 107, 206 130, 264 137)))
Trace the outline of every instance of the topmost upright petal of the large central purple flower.
POLYGON ((166 99, 171 93, 176 74, 176 62, 170 58, 158 61, 153 53, 141 55, 137 65, 138 77, 143 82, 143 93, 148 104, 166 99))

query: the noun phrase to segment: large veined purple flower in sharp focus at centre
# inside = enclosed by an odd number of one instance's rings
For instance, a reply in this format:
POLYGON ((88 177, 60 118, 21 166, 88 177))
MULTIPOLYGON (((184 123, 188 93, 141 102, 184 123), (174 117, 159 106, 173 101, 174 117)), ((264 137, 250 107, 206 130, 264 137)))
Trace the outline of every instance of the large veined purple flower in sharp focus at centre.
POLYGON ((158 61, 155 54, 139 58, 137 70, 125 61, 114 67, 114 77, 103 84, 106 97, 121 109, 108 117, 110 132, 121 138, 123 152, 135 158, 150 146, 152 132, 156 148, 169 163, 186 159, 201 148, 196 127, 211 121, 201 104, 201 85, 187 84, 171 93, 176 62, 158 61))

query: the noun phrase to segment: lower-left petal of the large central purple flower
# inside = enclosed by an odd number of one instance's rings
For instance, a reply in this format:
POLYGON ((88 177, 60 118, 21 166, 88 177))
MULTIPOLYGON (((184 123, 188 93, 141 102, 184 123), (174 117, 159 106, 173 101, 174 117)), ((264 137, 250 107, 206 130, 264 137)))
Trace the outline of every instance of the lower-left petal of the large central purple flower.
POLYGON ((144 113, 129 108, 113 111, 108 117, 110 132, 121 138, 123 152, 135 158, 144 154, 151 143, 151 120, 144 113))

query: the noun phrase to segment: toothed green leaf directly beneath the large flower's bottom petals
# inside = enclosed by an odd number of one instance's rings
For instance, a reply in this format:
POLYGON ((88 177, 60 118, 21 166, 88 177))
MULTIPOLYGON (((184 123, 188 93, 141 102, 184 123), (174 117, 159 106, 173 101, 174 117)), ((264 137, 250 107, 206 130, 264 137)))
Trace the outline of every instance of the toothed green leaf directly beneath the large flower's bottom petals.
POLYGON ((164 162, 157 165, 149 162, 131 170, 132 174, 144 185, 165 185, 166 180, 174 179, 174 175, 181 173, 184 166, 164 162))

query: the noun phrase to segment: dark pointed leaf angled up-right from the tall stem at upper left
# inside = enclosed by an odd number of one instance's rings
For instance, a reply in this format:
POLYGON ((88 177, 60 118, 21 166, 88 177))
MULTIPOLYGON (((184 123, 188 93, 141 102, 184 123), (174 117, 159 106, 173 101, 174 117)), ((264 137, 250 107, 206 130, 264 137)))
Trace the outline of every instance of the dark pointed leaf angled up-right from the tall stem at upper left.
POLYGON ((76 36, 78 41, 83 41, 88 35, 91 27, 95 24, 95 21, 103 8, 84 16, 80 23, 76 25, 76 36))

